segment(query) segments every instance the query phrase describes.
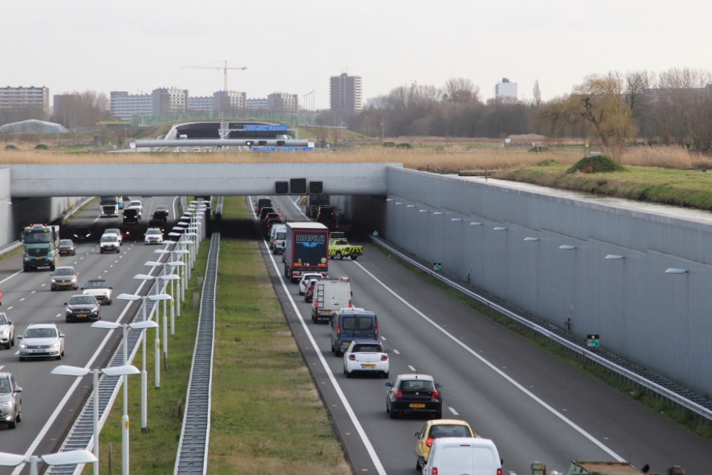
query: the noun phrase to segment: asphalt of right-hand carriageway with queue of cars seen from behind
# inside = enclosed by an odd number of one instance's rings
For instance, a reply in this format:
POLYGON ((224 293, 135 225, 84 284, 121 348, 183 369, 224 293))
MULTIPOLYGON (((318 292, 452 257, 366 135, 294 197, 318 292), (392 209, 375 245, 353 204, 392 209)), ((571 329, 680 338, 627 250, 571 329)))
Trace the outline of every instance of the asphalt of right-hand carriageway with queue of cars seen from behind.
MULTIPOLYGON (((289 221, 307 221, 288 197, 273 202, 289 221)), ((379 335, 392 350, 389 380, 414 370, 433 375, 443 385, 443 416, 464 419, 493 439, 504 474, 530 474, 533 461, 544 462, 549 474, 566 473, 572 459, 712 473, 712 447, 704 439, 424 283, 358 237, 350 241, 362 244, 365 255, 330 261, 329 273, 349 276, 354 305, 377 313, 379 335)), ((425 419, 389 419, 386 380, 342 374, 342 358, 330 351, 330 328, 311 322, 298 286, 283 280, 281 256, 271 256, 263 242, 261 249, 356 473, 416 473, 413 434, 425 419)))

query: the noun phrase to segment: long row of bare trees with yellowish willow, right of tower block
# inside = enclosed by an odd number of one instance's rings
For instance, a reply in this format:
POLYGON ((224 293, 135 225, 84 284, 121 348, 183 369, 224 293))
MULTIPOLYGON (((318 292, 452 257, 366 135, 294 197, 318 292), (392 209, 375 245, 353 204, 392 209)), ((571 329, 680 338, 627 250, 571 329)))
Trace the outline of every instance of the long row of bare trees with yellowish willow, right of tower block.
POLYGON ((611 71, 591 75, 572 93, 545 102, 538 81, 533 99, 483 102, 466 78, 451 78, 441 88, 401 86, 379 103, 350 118, 350 128, 441 137, 492 137, 538 133, 585 137, 614 157, 634 140, 712 151, 712 73, 693 69, 611 71))

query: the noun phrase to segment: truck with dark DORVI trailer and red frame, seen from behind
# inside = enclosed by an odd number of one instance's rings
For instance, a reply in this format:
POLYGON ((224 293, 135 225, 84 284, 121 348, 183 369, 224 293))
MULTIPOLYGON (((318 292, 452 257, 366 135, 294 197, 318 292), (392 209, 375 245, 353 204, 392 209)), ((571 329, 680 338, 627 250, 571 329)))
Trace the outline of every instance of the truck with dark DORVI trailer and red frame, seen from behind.
POLYGON ((306 272, 326 276, 329 271, 329 229, 321 223, 287 223, 282 261, 284 276, 292 282, 306 272))

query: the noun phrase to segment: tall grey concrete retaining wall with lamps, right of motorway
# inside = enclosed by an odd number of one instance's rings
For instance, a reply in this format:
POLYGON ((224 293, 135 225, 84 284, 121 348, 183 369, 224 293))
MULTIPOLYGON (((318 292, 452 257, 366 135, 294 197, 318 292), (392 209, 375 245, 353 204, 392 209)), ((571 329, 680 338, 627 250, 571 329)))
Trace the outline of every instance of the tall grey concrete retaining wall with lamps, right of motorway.
POLYGON ((387 197, 335 200, 412 254, 712 394, 712 225, 396 168, 387 197))

